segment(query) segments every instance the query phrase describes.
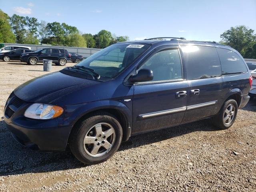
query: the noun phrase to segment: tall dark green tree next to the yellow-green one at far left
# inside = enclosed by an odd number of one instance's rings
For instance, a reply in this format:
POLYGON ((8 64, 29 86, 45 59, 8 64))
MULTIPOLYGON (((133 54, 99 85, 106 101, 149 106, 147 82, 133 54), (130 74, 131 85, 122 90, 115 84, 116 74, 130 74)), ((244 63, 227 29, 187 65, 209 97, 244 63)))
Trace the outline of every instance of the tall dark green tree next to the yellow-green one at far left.
POLYGON ((24 43, 26 33, 26 18, 14 14, 12 17, 10 17, 10 24, 12 26, 12 31, 16 36, 16 43, 24 43))

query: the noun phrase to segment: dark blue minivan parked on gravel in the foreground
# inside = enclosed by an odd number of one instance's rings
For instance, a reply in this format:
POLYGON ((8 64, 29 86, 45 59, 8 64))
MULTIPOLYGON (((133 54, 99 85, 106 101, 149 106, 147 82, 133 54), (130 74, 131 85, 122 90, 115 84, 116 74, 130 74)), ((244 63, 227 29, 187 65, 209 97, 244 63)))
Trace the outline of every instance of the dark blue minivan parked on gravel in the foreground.
POLYGON ((69 147, 84 164, 96 164, 135 134, 204 118, 229 128, 251 84, 244 59, 229 46, 184 38, 122 42, 20 85, 4 121, 24 146, 69 147))

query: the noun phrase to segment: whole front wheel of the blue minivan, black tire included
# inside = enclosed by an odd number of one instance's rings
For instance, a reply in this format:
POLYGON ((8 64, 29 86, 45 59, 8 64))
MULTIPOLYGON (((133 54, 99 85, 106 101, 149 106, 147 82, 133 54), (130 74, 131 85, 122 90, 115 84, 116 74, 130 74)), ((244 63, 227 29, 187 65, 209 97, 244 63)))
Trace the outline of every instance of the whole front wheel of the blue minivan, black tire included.
POLYGON ((98 112, 74 127, 70 134, 70 150, 80 162, 98 164, 114 155, 122 135, 122 127, 115 116, 98 112))

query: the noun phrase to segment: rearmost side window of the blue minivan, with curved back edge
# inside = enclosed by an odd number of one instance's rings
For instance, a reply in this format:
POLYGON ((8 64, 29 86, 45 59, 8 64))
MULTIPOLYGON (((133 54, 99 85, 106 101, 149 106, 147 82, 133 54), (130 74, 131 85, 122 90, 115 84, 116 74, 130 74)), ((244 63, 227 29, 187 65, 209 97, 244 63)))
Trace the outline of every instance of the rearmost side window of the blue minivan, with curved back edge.
POLYGON ((236 74, 247 72, 243 60, 232 50, 217 48, 220 56, 222 74, 236 74))

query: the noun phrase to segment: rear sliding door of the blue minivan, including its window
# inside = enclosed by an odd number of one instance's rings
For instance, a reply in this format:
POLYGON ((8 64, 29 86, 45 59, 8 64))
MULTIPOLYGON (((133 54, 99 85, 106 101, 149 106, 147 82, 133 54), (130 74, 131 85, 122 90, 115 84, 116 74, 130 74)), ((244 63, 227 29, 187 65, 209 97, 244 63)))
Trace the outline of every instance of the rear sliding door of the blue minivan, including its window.
POLYGON ((189 98, 184 123, 215 115, 222 106, 222 77, 216 48, 181 46, 189 84, 189 98))

